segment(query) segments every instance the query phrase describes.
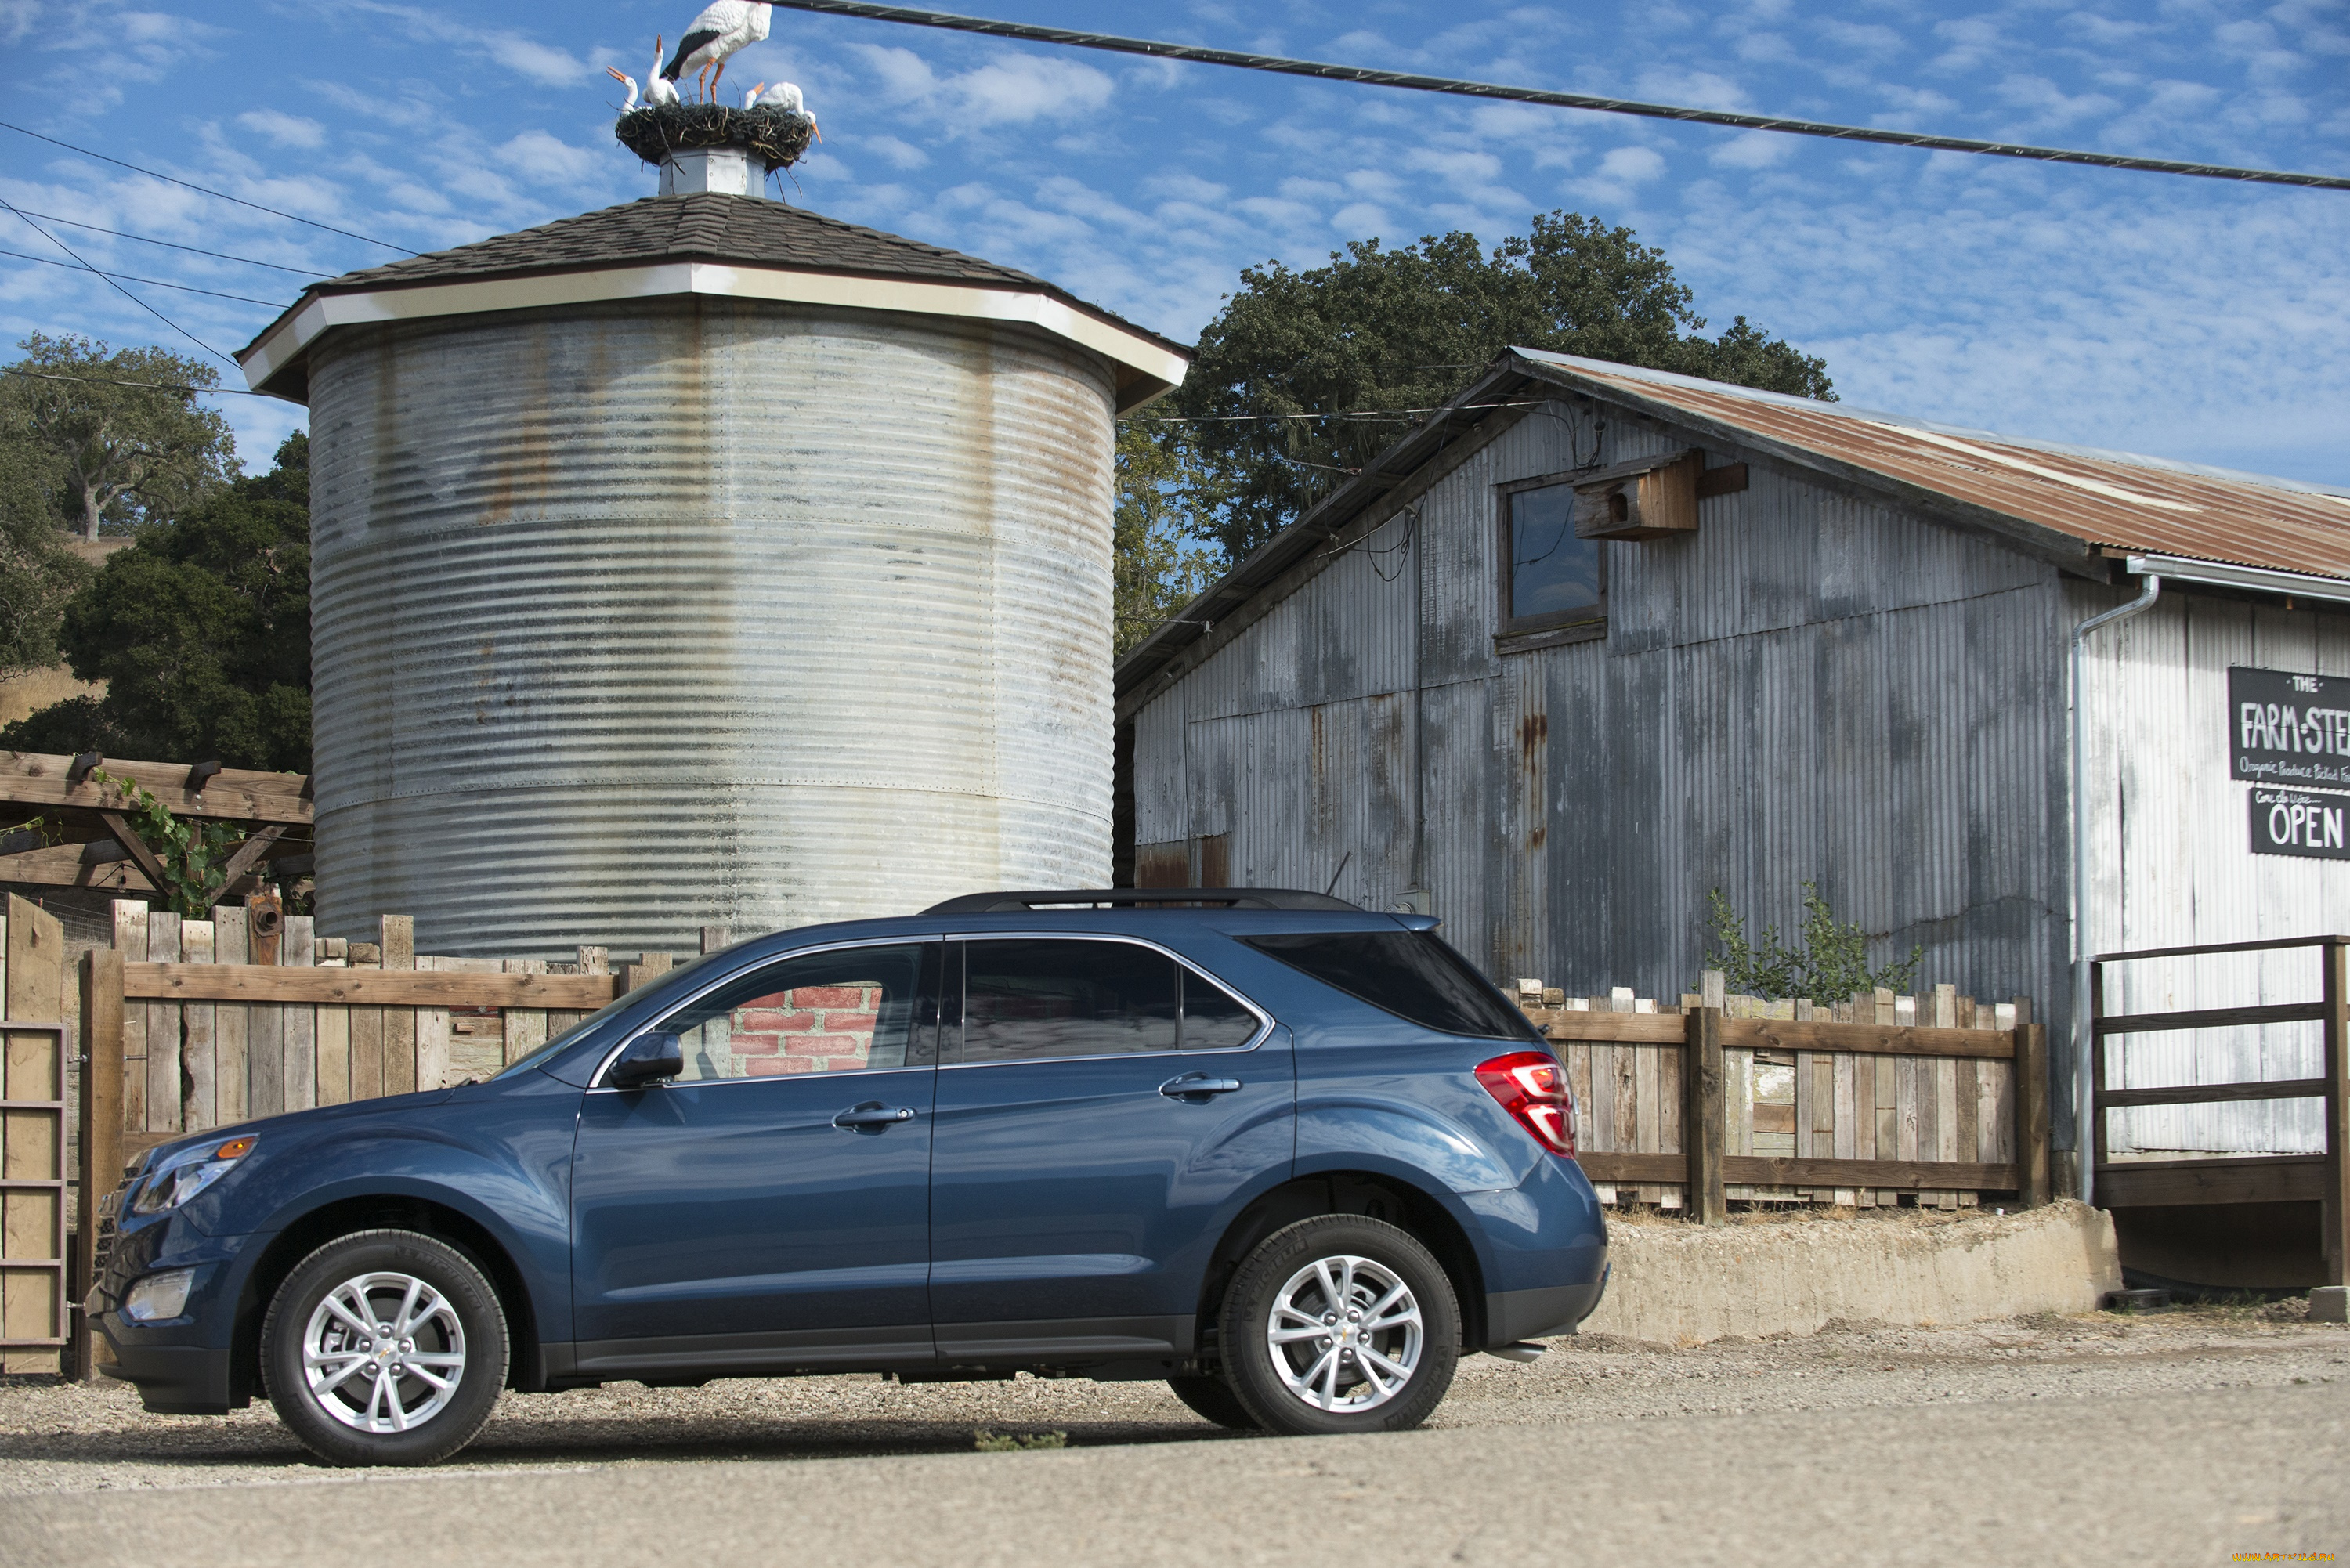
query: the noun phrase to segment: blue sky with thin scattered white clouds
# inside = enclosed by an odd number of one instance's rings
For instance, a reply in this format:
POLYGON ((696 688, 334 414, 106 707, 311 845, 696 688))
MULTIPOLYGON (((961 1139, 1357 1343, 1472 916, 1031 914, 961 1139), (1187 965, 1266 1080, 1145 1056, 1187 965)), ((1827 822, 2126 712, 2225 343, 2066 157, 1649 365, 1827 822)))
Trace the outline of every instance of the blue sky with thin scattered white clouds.
MULTIPOLYGON (((945 0, 938 0, 945 5, 945 0)), ((562 7, 0 0, 0 118, 432 249, 632 200, 618 63, 693 0, 562 7)), ((1020 21, 1718 108, 2350 172, 2350 0, 1321 0, 966 5, 1020 21)), ((1027 268, 1191 339, 1246 263, 1523 233, 1661 244, 1716 327, 1826 355, 1847 402, 2350 484, 2350 193, 2019 165, 1304 82, 776 12, 728 82, 797 80, 785 195, 1027 268)), ((392 252, 0 132, 9 202, 287 268, 392 252)), ((59 256, 0 214, 0 249, 59 256)), ((101 268, 289 301, 298 273, 45 223, 101 268)), ((216 348, 266 306, 129 284, 216 348)), ((0 256, 0 331, 174 339, 0 256)), ((233 371, 230 371, 233 374, 233 371)), ((247 461, 301 409, 223 397, 247 461)))

